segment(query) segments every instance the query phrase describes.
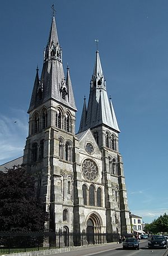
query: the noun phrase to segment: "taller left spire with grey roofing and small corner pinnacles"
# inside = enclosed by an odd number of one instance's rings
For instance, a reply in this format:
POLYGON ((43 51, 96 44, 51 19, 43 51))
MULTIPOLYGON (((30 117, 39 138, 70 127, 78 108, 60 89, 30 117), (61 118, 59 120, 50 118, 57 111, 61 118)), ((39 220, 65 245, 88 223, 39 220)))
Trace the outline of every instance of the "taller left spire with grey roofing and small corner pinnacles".
POLYGON ((77 111, 69 67, 67 67, 66 78, 64 76, 62 48, 59 45, 54 16, 50 28, 48 44, 44 52, 41 78, 39 79, 39 73, 37 71, 28 113, 49 99, 56 100, 58 103, 64 104, 74 111, 77 111))

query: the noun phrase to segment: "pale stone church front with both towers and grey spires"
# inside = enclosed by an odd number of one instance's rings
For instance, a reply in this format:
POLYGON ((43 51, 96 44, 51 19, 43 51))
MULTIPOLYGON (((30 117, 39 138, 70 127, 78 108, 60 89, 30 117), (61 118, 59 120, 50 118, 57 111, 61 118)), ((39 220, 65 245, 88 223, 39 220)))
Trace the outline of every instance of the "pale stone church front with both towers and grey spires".
POLYGON ((53 16, 41 76, 36 69, 23 158, 26 170, 36 177, 36 195, 49 213, 46 228, 130 233, 120 131, 98 50, 77 134, 76 111, 69 67, 65 76, 53 16))

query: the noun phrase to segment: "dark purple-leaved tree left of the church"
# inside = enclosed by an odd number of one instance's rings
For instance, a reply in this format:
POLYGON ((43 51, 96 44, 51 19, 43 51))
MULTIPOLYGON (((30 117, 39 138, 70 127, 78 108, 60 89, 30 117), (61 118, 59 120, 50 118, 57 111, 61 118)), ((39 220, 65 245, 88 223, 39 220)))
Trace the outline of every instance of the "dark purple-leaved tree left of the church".
POLYGON ((23 167, 0 171, 0 229, 39 232, 47 220, 34 196, 34 178, 23 167))

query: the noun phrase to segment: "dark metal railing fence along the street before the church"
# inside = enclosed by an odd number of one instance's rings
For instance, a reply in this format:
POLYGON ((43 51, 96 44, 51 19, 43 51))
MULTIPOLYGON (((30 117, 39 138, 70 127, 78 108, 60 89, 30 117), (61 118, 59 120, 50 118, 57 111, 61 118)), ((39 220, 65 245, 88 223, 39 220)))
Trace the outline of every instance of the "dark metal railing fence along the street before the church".
POLYGON ((0 254, 118 242, 119 234, 0 232, 0 254))

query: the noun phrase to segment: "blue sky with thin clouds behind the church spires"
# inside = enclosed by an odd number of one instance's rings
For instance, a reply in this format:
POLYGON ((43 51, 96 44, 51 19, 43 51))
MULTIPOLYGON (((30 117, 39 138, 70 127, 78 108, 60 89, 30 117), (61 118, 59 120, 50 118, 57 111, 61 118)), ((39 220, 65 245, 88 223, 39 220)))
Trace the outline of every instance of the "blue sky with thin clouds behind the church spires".
MULTIPOLYGON (((23 155, 36 66, 43 65, 55 4, 76 127, 99 39, 119 128, 130 211, 151 222, 167 205, 168 1, 6 0, 0 9, 0 164, 23 155), (17 121, 17 123, 14 123, 17 121)), ((77 130, 76 129, 76 130, 77 130)))

